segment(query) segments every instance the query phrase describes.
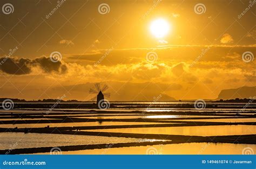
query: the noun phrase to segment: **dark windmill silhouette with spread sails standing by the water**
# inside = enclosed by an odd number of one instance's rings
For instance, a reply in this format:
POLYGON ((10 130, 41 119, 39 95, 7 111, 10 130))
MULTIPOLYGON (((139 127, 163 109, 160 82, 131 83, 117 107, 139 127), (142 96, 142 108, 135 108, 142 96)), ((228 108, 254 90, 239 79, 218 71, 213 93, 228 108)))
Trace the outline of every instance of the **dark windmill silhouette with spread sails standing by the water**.
POLYGON ((100 84, 95 84, 96 89, 90 89, 90 93, 97 94, 95 97, 91 99, 91 101, 95 101, 97 99, 97 107, 98 109, 107 109, 109 108, 109 102, 104 99, 105 97, 110 97, 110 93, 105 93, 105 91, 109 88, 107 85, 104 85, 102 89, 100 89, 100 84))

